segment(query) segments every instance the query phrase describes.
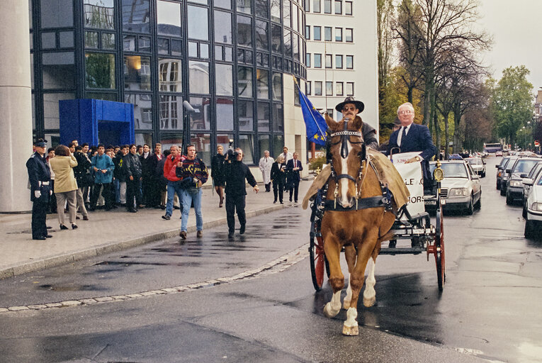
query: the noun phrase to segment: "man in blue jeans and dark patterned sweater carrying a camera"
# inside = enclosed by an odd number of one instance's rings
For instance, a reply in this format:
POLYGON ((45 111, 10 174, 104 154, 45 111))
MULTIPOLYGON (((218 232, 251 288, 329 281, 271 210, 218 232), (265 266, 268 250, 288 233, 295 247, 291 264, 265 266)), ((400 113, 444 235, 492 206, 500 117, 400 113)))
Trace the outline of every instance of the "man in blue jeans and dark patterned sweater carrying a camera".
POLYGON ((196 212, 196 237, 201 238, 203 237, 203 216, 201 214, 201 195, 203 192, 201 186, 207 181, 209 173, 203 160, 196 157, 196 146, 188 145, 186 147, 186 159, 177 164, 176 175, 181 178, 181 198, 183 203, 179 237, 186 240, 188 212, 190 212, 190 206, 193 203, 196 212))

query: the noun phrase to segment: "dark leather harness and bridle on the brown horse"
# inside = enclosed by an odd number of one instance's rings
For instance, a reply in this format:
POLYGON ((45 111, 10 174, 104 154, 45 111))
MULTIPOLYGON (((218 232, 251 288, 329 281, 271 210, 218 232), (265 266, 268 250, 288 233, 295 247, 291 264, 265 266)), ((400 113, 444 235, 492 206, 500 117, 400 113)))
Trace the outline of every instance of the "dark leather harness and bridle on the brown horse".
MULTIPOLYGON (((327 160, 328 164, 331 167, 331 174, 329 178, 333 178, 335 181, 334 200, 324 201, 324 195, 327 194, 327 186, 328 186, 328 184, 326 183, 324 186, 325 190, 322 190, 322 189, 319 190, 319 193, 318 193, 319 195, 317 196, 317 202, 320 201, 320 204, 323 204, 324 211, 359 211, 361 209, 378 208, 382 206, 385 207, 386 211, 391 211, 392 210, 392 203, 391 203, 392 195, 390 193, 390 189, 388 189, 388 186, 384 185, 382 181, 380 181, 380 179, 378 180, 378 182, 380 183, 380 189, 382 191, 382 195, 371 196, 368 198, 361 198, 361 186, 363 186, 363 181, 365 180, 365 177, 366 177, 366 173, 363 172, 363 169, 366 168, 367 163, 373 168, 376 175, 378 176, 378 172, 376 171, 376 167, 374 166, 373 162, 371 162, 371 160, 368 160, 367 158, 367 150, 366 150, 366 145, 363 142, 363 134, 358 131, 348 130, 348 121, 346 121, 344 122, 344 130, 338 131, 337 133, 332 133, 330 135, 331 138, 333 138, 334 136, 341 137, 341 140, 337 141, 337 143, 332 143, 332 145, 337 145, 341 143, 341 157, 343 159, 346 159, 346 157, 348 157, 349 155, 349 150, 348 150, 349 137, 357 136, 358 138, 361 139, 361 141, 356 141, 356 142, 350 141, 351 144, 361 144, 361 151, 358 152, 358 157, 360 159, 358 176, 354 178, 350 174, 337 175, 337 172, 335 172, 335 169, 333 167, 332 160, 327 160), (350 179, 351 181, 354 181, 354 184, 356 185, 356 204, 354 206, 351 206, 350 208, 344 208, 340 204, 339 206, 337 206, 337 196, 339 195, 339 180, 340 179, 350 179)), ((319 203, 315 203, 315 205, 318 205, 318 204, 319 203)))

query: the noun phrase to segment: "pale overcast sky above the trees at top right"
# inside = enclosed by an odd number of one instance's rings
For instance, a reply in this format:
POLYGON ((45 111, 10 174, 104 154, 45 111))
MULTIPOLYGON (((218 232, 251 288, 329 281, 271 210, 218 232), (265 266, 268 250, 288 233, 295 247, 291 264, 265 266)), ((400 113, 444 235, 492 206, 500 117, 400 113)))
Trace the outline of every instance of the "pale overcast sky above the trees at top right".
POLYGON ((493 77, 502 69, 525 65, 533 94, 542 86, 542 0, 479 0, 480 26, 493 37, 493 47, 484 55, 493 77))

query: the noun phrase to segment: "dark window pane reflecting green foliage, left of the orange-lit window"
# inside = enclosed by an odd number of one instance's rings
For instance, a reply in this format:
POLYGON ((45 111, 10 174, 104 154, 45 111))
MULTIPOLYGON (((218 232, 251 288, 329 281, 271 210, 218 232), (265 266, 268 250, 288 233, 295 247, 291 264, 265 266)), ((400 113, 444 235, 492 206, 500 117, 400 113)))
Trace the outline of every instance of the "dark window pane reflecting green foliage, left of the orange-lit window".
POLYGON ((87 88, 115 89, 115 55, 85 53, 85 84, 87 88))

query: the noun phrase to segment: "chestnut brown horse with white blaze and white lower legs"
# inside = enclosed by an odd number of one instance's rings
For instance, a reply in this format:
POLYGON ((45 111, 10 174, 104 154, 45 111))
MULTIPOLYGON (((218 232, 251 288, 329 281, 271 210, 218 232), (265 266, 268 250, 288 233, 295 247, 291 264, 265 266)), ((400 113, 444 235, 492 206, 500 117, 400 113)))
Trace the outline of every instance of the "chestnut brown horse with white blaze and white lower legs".
POLYGON ((326 117, 326 123, 332 145, 332 177, 329 178, 327 203, 340 206, 331 207, 331 210, 326 208, 322 218, 324 252, 329 262, 329 284, 333 289, 331 301, 324 306, 324 315, 332 318, 341 310, 344 275, 340 253, 344 247, 350 277, 344 298, 344 308, 348 310, 343 334, 358 335, 358 296, 365 269, 369 264, 363 305, 370 307, 376 301, 375 262, 380 242, 387 239, 385 234, 392 227, 395 215, 386 211, 382 203, 374 203, 382 201, 378 196, 382 197, 383 192, 376 171, 366 160, 361 118, 335 122, 326 117))

